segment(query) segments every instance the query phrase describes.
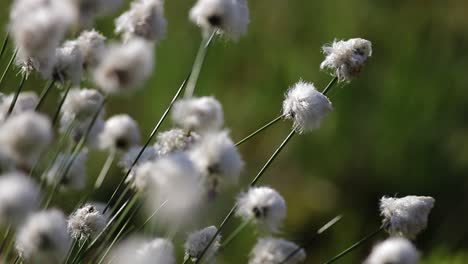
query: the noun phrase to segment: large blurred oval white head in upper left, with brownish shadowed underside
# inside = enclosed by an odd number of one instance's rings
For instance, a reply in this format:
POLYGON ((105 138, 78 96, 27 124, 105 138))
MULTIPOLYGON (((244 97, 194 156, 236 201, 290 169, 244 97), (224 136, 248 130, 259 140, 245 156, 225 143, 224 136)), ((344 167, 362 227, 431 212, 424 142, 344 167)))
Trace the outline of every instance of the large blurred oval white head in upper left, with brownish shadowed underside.
POLYGON ((94 80, 105 94, 129 93, 153 73, 154 45, 142 39, 112 44, 94 71, 94 80))

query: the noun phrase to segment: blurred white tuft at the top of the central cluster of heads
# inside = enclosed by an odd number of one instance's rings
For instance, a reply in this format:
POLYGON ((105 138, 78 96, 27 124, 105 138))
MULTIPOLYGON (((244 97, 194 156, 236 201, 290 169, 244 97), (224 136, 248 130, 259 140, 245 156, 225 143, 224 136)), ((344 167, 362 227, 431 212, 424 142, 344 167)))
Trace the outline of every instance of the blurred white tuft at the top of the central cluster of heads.
POLYGON ((172 108, 172 121, 199 133, 219 130, 224 123, 223 108, 212 96, 178 100, 172 108))

